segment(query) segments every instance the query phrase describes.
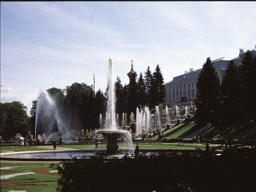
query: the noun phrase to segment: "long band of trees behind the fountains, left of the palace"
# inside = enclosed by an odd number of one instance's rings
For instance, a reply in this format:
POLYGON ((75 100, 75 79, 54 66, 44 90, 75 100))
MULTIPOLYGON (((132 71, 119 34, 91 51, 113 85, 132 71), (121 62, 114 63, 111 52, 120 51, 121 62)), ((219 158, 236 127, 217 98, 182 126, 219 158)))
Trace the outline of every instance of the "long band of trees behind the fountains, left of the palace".
MULTIPOLYGON (((137 107, 146 105, 154 107, 158 103, 162 103, 165 98, 165 87, 159 65, 156 66, 153 73, 148 67, 144 77, 142 73, 139 78, 136 75, 131 76, 128 85, 122 85, 117 76, 114 87, 116 112, 119 116, 122 116, 123 113, 135 113, 137 107)), ((77 82, 66 86, 65 89, 53 87, 46 91, 54 98, 60 119, 65 120, 67 127, 72 127, 73 130, 99 128, 99 115, 104 116, 106 113, 106 91, 103 93, 101 89, 98 89, 94 93, 93 85, 77 82)), ((27 115, 27 107, 21 102, 1 103, 0 134, 5 137, 13 137, 16 133, 21 135, 27 135, 28 131, 31 131, 32 134, 35 133, 37 102, 40 97, 41 95, 37 100, 32 101, 30 117, 27 115)), ((45 124, 37 124, 36 129, 39 130, 40 126, 45 126, 45 124)), ((53 126, 54 131, 57 131, 57 122, 53 126)))

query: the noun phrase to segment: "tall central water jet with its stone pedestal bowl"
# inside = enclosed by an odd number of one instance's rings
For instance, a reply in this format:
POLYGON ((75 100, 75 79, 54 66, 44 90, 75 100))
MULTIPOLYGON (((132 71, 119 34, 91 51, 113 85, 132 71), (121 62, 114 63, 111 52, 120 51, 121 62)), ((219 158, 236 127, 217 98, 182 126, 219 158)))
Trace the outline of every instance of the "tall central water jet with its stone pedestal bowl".
POLYGON ((114 65, 112 59, 109 59, 108 90, 107 90, 107 112, 106 129, 96 130, 96 134, 101 134, 107 138, 106 154, 119 154, 117 139, 122 136, 131 142, 131 133, 127 130, 118 130, 115 117, 115 92, 114 92, 114 65))

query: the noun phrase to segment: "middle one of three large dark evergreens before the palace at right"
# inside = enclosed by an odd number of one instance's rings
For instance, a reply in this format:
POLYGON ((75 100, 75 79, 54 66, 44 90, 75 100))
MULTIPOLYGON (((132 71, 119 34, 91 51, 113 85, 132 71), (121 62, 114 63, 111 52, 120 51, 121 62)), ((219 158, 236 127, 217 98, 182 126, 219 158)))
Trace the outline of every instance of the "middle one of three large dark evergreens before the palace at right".
POLYGON ((239 106, 238 93, 240 91, 240 80, 237 65, 233 60, 230 61, 226 73, 222 77, 221 82, 221 119, 234 123, 238 120, 239 106))

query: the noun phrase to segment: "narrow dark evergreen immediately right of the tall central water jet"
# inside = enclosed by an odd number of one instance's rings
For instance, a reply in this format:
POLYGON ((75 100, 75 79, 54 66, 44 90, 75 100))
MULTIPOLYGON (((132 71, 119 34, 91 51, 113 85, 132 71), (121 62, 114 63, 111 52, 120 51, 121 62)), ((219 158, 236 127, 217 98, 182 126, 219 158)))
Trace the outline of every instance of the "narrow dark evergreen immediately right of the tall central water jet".
POLYGON ((117 81, 114 82, 116 95, 116 111, 119 116, 123 113, 123 85, 120 78, 117 76, 117 81))

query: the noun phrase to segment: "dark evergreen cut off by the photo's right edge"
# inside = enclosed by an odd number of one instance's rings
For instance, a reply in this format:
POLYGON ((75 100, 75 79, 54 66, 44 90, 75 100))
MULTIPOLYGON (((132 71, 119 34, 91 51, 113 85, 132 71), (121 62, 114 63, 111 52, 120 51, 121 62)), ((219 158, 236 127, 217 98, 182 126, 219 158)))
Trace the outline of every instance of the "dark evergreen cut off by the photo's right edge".
POLYGON ((253 113, 252 101, 256 94, 255 86, 255 59, 251 51, 245 53, 245 57, 242 59, 242 64, 239 66, 239 72, 241 77, 241 90, 240 90, 240 107, 241 111, 247 111, 247 113, 242 113, 243 119, 256 119, 253 113))

